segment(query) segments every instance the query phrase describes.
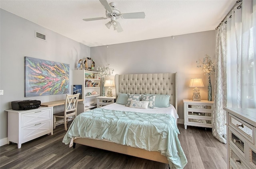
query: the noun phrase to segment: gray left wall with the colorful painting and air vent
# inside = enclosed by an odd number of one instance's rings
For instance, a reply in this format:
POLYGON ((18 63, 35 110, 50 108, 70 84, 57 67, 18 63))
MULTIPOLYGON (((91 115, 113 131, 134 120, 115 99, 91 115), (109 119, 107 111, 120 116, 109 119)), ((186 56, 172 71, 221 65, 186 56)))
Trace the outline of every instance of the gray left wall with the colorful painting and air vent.
MULTIPOLYGON (((7 112, 11 101, 36 99, 41 102, 65 99, 66 94, 24 97, 24 57, 34 57, 70 64, 76 69, 79 59, 90 57, 90 47, 28 20, 0 9, 0 143, 7 141, 7 112), (35 30, 46 34, 46 40, 35 38, 35 30)), ((70 87, 71 91, 71 87, 70 87)), ((54 107, 54 111, 62 109, 54 107)))

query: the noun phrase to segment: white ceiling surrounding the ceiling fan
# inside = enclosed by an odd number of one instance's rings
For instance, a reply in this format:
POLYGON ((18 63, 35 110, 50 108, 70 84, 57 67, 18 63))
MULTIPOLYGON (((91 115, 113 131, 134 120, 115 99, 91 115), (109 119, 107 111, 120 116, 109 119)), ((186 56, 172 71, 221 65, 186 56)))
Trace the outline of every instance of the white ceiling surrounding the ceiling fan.
POLYGON ((89 47, 214 30, 236 0, 108 0, 121 13, 145 12, 145 19, 119 18, 124 31, 84 18, 105 17, 99 0, 0 0, 0 8, 89 47))

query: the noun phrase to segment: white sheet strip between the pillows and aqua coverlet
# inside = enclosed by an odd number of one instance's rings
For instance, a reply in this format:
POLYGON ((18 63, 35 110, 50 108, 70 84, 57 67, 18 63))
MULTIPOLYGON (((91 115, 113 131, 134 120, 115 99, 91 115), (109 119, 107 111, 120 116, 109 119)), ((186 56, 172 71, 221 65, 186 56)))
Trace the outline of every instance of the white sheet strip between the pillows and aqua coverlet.
POLYGON ((172 116, 176 119, 179 118, 176 109, 172 104, 170 104, 167 108, 147 108, 147 109, 141 109, 141 108, 131 108, 128 106, 125 106, 123 104, 108 104, 106 106, 103 106, 101 108, 107 109, 107 110, 118 110, 118 111, 127 111, 127 112, 139 112, 139 113, 152 113, 152 114, 172 114, 172 116))

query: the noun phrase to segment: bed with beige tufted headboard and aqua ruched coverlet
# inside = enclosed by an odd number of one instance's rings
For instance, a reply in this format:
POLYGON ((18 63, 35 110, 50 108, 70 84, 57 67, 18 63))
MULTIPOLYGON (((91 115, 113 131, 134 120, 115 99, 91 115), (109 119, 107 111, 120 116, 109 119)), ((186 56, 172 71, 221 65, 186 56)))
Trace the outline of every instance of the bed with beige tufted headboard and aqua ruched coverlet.
MULTIPOLYGON (((176 81, 177 73, 116 75, 117 103, 79 114, 70 125, 62 142, 69 144, 70 147, 75 147, 75 144, 79 143, 166 163, 171 169, 182 169, 186 165, 187 159, 178 140, 179 131, 176 126, 178 118, 176 81), (122 104, 126 98, 124 100, 121 98, 125 94, 128 94, 129 97, 140 94, 140 98, 144 96, 149 99, 146 102, 145 100, 144 102, 137 101, 136 106, 141 106, 144 103, 150 106, 152 96, 157 95, 162 98, 167 95, 169 96, 168 107, 133 108, 132 105, 135 105, 136 102, 133 100, 134 98, 130 99, 130 106, 122 104), (152 94, 152 96, 146 96, 146 94, 152 94), (96 121, 96 119, 99 120, 96 121), (102 123, 99 124, 99 122, 102 123), (86 126, 89 124, 91 126, 86 126), (99 127, 95 127, 96 125, 101 126, 102 131, 98 129, 99 127), (124 128, 127 130, 123 131, 124 128), (138 134, 134 131, 137 131, 138 134), (110 134, 111 132, 114 134, 110 134), (154 134, 149 132, 154 132, 154 134), (124 135, 124 133, 126 134, 124 135), (166 135, 166 133, 168 134, 166 135), (150 134, 150 137, 147 134, 150 134)), ((161 100, 158 104, 163 102, 166 100, 161 100)))

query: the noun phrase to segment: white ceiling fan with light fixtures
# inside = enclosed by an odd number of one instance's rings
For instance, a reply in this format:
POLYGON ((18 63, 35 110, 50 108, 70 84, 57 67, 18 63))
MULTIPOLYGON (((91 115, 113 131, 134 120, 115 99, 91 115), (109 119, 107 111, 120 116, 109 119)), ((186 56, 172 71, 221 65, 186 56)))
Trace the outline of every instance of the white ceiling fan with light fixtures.
POLYGON ((110 18, 110 22, 106 23, 106 27, 110 29, 110 27, 113 25, 114 30, 117 32, 123 31, 120 23, 117 21, 118 18, 122 19, 143 19, 145 18, 144 12, 134 12, 134 13, 126 13, 121 14, 120 10, 116 8, 116 3, 111 2, 108 4, 106 0, 100 0, 100 3, 104 6, 106 9, 106 17, 98 17, 98 18, 87 18, 83 19, 84 21, 94 21, 94 20, 105 20, 110 18))

